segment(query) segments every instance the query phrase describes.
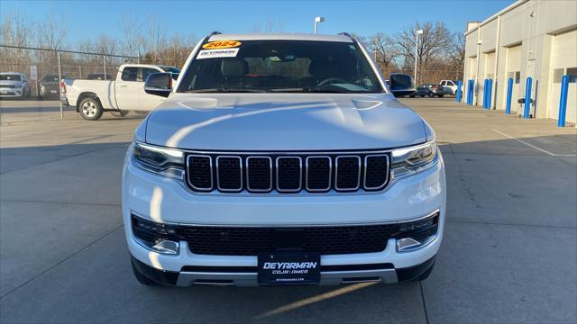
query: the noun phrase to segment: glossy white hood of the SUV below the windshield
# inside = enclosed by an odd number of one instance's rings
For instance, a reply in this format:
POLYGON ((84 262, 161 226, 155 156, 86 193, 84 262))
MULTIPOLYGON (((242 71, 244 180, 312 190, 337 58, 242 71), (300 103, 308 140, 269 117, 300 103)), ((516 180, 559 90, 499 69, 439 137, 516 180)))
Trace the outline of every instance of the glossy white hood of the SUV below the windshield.
POLYGON ((172 94, 142 127, 147 143, 198 150, 395 148, 426 141, 422 119, 391 94, 172 94))

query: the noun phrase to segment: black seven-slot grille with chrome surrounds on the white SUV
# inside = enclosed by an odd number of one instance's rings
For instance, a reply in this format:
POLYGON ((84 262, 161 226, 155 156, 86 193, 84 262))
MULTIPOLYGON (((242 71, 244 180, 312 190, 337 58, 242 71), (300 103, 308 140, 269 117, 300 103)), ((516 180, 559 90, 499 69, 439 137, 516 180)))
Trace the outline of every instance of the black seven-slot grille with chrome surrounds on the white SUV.
POLYGON ((327 193, 378 191, 389 184, 389 154, 189 154, 195 192, 327 193))

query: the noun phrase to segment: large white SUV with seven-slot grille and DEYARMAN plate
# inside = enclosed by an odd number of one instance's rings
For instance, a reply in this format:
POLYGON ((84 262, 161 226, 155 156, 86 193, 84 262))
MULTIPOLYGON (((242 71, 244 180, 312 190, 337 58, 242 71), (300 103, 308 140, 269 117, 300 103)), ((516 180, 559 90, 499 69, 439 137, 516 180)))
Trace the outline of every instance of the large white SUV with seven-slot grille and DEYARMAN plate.
POLYGON ((135 130, 124 163, 140 283, 430 274, 444 228, 443 158, 359 41, 213 33, 176 85, 159 73, 145 89, 168 98, 135 130))

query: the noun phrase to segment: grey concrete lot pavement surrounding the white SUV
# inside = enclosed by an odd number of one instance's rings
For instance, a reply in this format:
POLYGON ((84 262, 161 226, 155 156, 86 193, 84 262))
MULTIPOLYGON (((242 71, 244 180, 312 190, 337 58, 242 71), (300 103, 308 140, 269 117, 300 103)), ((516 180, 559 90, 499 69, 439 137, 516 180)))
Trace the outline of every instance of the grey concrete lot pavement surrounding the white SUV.
POLYGON ((401 101, 436 130, 447 172, 444 242, 422 284, 143 287, 120 211, 142 118, 2 112, 0 322, 577 322, 577 131, 401 101))

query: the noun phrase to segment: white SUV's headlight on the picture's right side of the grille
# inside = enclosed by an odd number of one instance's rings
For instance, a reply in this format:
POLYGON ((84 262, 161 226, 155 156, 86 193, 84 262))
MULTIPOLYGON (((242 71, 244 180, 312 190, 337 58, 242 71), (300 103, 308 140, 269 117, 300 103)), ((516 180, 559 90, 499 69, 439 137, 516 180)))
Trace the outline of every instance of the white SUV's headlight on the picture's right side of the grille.
POLYGON ((435 141, 409 148, 398 148, 392 151, 391 170, 393 177, 410 175, 435 165, 435 141))

